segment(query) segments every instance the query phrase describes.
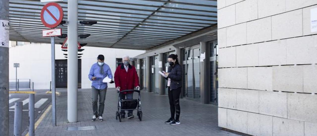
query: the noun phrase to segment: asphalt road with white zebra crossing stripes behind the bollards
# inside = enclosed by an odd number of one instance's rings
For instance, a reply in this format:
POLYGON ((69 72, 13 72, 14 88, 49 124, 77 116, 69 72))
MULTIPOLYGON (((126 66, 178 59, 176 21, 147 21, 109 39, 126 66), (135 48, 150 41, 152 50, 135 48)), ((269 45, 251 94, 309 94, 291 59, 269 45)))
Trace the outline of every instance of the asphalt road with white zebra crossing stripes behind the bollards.
MULTIPOLYGON (((46 91, 38 90, 35 94, 35 118, 36 120, 42 115, 44 108, 51 103, 51 95, 46 91), (40 112, 40 113, 39 113, 40 112)), ((22 132, 29 129, 29 94, 10 94, 9 96, 9 134, 13 136, 14 131, 14 103, 23 102, 22 114, 22 132)))

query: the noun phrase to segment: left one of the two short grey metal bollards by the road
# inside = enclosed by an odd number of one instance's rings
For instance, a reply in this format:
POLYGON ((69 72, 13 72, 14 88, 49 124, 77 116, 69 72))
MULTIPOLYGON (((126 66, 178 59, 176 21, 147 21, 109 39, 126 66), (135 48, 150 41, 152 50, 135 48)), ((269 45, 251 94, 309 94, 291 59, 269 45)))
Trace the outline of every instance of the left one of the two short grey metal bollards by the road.
POLYGON ((14 136, 21 136, 22 132, 22 102, 15 102, 14 109, 14 136))

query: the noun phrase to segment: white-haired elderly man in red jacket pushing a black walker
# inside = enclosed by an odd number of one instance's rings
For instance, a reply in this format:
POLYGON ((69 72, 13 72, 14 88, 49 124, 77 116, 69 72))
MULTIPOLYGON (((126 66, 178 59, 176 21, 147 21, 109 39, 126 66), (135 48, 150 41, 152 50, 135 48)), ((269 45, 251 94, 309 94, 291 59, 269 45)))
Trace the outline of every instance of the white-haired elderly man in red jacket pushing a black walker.
MULTIPOLYGON (((139 76, 134 66, 130 65, 129 56, 122 57, 122 62, 120 66, 116 69, 114 73, 114 82, 117 90, 131 90, 136 88, 140 88, 139 86, 139 76)), ((133 99, 133 92, 123 92, 120 95, 120 99, 133 99)), ((126 112, 124 110, 121 111, 121 118, 125 118, 126 112)), ((128 119, 134 118, 133 110, 128 111, 128 119)))

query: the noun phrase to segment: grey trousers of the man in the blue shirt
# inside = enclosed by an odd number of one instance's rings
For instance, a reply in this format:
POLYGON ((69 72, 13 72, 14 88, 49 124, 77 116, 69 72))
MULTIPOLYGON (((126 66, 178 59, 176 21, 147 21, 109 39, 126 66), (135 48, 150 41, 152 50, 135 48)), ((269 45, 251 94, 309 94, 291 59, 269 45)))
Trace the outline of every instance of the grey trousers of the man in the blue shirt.
POLYGON ((94 115, 102 116, 103 110, 105 108, 105 99, 106 99, 107 88, 96 89, 96 88, 92 87, 91 91, 92 91, 94 115), (99 110, 98 110, 98 95, 99 95, 99 110))

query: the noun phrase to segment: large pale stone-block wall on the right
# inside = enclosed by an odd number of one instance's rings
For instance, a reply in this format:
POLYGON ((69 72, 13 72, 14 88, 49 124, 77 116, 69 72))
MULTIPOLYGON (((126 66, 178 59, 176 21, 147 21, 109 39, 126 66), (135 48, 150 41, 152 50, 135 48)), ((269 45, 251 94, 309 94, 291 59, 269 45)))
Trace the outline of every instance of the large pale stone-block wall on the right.
POLYGON ((316 0, 218 0, 219 126, 317 135, 316 0))

